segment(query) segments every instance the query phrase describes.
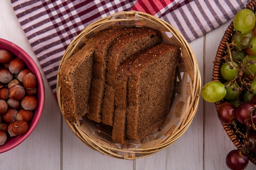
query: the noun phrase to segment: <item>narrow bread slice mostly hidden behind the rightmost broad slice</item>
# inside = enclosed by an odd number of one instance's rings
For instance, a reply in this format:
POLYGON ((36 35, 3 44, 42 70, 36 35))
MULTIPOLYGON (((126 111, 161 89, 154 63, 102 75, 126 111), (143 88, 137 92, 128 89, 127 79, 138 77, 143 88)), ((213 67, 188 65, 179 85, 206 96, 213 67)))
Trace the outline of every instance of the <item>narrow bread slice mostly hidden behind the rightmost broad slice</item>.
POLYGON ((117 84, 115 87, 115 111, 113 119, 112 139, 117 143, 127 143, 130 139, 126 138, 126 115, 127 115, 127 92, 128 92, 128 72, 135 60, 145 52, 148 48, 145 48, 131 57, 125 59, 117 69, 117 84))

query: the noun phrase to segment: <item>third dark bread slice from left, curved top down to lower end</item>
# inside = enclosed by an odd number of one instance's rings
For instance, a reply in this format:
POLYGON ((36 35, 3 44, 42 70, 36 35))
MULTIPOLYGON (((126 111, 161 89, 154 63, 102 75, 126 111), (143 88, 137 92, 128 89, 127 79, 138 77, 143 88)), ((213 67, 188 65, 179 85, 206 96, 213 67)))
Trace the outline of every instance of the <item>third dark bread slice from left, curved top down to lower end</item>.
POLYGON ((106 89, 103 98, 102 117, 108 118, 107 120, 102 119, 104 121, 103 123, 113 125, 115 106, 115 103, 112 102, 113 89, 116 85, 116 72, 120 63, 143 48, 152 48, 161 42, 162 37, 160 32, 148 27, 140 27, 129 34, 123 34, 113 42, 106 58, 106 82, 112 88, 106 89))

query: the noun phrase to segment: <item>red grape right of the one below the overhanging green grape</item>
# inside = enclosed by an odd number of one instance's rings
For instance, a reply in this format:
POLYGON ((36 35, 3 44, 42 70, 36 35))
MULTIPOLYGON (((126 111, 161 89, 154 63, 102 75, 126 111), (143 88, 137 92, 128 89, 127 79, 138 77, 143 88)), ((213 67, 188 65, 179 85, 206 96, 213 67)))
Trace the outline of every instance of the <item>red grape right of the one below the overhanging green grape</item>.
POLYGON ((245 124, 245 121, 251 116, 251 112, 255 109, 254 104, 245 102, 239 105, 236 109, 236 119, 241 123, 245 124))

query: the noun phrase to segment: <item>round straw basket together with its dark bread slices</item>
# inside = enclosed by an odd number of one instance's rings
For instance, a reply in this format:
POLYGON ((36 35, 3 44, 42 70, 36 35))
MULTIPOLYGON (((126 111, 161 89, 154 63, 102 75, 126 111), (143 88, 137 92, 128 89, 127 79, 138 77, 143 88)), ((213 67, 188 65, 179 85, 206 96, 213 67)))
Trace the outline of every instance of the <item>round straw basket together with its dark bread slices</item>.
POLYGON ((150 156, 175 142, 198 108, 195 55, 169 23, 120 11, 85 28, 58 69, 57 98, 73 133, 119 159, 150 156))

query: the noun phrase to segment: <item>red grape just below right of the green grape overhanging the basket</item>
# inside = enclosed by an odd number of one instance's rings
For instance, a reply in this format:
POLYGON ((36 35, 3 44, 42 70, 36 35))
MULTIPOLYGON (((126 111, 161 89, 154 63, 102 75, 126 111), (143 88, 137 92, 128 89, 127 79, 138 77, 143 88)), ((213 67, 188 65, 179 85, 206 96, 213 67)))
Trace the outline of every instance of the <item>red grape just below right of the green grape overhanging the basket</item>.
POLYGON ((232 103, 221 103, 217 113, 221 123, 230 125, 232 123, 232 120, 236 119, 236 106, 232 103))

